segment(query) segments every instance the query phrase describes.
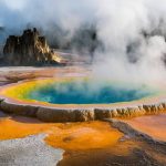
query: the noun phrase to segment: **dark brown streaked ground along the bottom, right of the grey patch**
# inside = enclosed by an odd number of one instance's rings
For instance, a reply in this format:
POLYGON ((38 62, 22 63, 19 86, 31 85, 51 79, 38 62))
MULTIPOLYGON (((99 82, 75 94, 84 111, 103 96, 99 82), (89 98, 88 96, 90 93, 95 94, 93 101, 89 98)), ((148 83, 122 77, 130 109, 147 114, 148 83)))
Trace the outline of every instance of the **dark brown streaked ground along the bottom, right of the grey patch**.
POLYGON ((125 141, 113 147, 95 151, 68 151, 59 166, 165 166, 166 154, 158 145, 149 146, 145 142, 125 141), (127 153, 126 153, 127 152, 127 153))

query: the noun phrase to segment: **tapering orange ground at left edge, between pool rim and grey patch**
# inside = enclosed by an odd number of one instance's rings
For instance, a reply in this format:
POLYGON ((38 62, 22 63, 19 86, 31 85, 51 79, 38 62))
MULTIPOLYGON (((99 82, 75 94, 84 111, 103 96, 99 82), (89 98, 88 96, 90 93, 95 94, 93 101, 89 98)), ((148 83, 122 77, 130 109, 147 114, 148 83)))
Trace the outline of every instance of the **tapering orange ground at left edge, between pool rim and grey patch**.
POLYGON ((3 117, 0 118, 0 139, 20 138, 29 135, 44 133, 53 124, 44 124, 27 117, 3 117))

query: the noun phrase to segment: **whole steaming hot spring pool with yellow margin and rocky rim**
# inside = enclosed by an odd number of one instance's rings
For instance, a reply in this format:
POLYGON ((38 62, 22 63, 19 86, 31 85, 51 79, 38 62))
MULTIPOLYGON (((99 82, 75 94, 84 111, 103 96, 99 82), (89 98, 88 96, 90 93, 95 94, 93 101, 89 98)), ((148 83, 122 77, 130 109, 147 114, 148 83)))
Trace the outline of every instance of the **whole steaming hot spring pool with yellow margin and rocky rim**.
POLYGON ((2 111, 45 122, 131 117, 166 110, 165 102, 160 103, 165 91, 86 77, 23 81, 3 86, 0 96, 2 111))

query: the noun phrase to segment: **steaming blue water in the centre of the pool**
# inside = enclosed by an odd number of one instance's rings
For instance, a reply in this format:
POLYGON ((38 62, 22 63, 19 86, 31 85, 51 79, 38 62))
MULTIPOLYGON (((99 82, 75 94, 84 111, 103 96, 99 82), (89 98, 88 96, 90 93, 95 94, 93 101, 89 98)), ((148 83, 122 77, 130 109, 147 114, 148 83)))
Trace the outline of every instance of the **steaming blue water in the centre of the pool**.
POLYGON ((129 102, 153 93, 144 86, 95 85, 89 82, 52 83, 29 92, 25 98, 53 104, 108 104, 129 102))

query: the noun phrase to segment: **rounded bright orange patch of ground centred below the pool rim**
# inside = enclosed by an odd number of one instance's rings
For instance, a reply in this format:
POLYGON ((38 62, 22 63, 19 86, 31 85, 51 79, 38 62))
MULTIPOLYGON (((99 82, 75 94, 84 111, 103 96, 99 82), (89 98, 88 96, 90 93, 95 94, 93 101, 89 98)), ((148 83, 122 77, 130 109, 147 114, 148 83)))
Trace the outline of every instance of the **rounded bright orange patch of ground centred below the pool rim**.
POLYGON ((105 122, 63 124, 52 128, 46 143, 63 149, 93 149, 113 146, 123 136, 105 122))

